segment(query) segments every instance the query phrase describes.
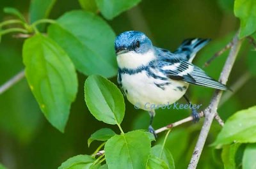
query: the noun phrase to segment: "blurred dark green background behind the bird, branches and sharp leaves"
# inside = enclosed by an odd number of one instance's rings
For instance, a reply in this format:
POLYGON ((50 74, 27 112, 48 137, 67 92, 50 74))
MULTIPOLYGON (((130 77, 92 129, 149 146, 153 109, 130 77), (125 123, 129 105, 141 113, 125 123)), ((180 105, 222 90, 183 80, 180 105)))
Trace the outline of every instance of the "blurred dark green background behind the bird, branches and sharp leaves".
MULTIPOLYGON (((5 6, 15 7, 28 16, 29 3, 27 0, 1 0, 0 19, 6 20, 9 17, 3 13, 5 6)), ((238 29, 239 21, 234 17, 232 8, 231 0, 228 3, 217 0, 143 0, 135 8, 107 22, 116 34, 128 30, 143 31, 154 45, 171 51, 186 38, 211 38, 212 42, 195 59, 195 64, 202 68, 205 61, 225 47, 238 29)), ((56 19, 66 11, 75 9, 81 9, 78 1, 59 0, 54 4, 50 18, 56 19)), ((2 37, 0 85, 24 68, 21 54, 23 41, 13 38, 12 35, 2 37)), ((228 80, 228 85, 234 87, 234 93, 225 92, 221 101, 218 112, 224 120, 237 110, 255 105, 253 94, 256 92, 256 80, 248 72, 248 48, 248 43, 244 43, 228 80)), ((226 57, 227 52, 204 68, 205 71, 218 79, 226 57)), ((10 169, 58 168, 72 156, 91 154, 99 142, 92 143, 89 149, 87 139, 97 129, 108 127, 118 131, 115 126, 97 121, 88 111, 84 103, 85 79, 86 77, 79 73, 79 91, 76 101, 72 104, 64 134, 46 121, 26 79, 0 95, 0 162, 3 165, 10 169)), ((116 77, 111 78, 111 81, 116 84, 116 77)), ((202 108, 205 108, 212 93, 212 89, 191 85, 188 96, 193 103, 202 103, 202 108)), ((184 99, 180 99, 180 103, 185 103, 184 99)), ((159 110, 154 127, 160 128, 189 114, 186 110, 159 110)), ((135 110, 126 101, 125 119, 122 123, 125 132, 147 129, 148 119, 146 112, 135 110)), ((173 154, 176 168, 188 166, 201 126, 202 120, 197 124, 190 122, 173 129, 170 134, 167 145, 173 154)), ((220 126, 214 122, 211 130, 198 168, 223 168, 220 151, 208 146, 216 138, 220 126)), ((163 140, 163 135, 159 135, 158 142, 163 140)), ((239 157, 237 158, 239 160, 239 157)))

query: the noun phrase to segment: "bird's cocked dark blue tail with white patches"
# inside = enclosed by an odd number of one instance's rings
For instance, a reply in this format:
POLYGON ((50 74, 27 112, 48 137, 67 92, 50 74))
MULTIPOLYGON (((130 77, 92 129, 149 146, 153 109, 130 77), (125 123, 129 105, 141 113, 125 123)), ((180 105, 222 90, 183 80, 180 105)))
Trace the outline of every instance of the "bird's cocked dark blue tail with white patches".
POLYGON ((185 59, 192 62, 196 52, 203 48, 210 39, 191 38, 184 40, 180 47, 174 52, 175 54, 185 54, 185 59))

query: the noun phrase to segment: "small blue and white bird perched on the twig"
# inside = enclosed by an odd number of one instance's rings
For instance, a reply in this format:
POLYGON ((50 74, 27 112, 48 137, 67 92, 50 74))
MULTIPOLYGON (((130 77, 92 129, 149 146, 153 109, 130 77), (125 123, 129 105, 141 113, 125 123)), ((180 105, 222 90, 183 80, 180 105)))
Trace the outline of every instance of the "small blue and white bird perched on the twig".
MULTIPOLYGON (((182 98, 189 102, 185 92, 189 84, 227 90, 227 87, 209 77, 204 70, 191 62, 196 52, 209 39, 188 39, 175 52, 154 47, 152 41, 140 31, 125 31, 116 36, 115 52, 118 63, 118 84, 126 98, 136 105, 166 105, 182 98)), ((148 130, 152 128, 154 108, 140 107, 150 114, 148 130)), ((194 121, 200 119, 192 108, 194 121)))

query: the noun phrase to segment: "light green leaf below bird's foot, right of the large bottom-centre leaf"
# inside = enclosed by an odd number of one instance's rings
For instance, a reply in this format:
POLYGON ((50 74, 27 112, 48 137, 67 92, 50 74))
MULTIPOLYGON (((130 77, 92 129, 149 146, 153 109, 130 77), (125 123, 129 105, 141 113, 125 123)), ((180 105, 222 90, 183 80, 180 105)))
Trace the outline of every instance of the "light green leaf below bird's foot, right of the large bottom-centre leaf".
POLYGON ((168 168, 175 168, 171 152, 163 145, 155 145, 152 147, 151 153, 157 158, 163 159, 164 163, 168 164, 168 168))

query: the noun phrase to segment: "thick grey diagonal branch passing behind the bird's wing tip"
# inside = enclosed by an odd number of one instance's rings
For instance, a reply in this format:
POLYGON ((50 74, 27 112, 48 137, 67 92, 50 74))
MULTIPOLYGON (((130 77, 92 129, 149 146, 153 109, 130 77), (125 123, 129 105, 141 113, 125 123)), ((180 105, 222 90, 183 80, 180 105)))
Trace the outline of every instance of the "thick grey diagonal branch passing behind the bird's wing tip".
MULTIPOLYGON (((227 83, 228 77, 230 75, 230 71, 232 70, 237 54, 241 47, 241 41, 239 41, 237 34, 234 36, 232 42, 233 42, 233 45, 231 47, 231 50, 228 54, 227 61, 225 62, 225 65, 220 75, 220 82, 223 84, 227 83)), ((222 94, 222 91, 216 90, 216 92, 214 93, 214 96, 211 99, 209 106, 204 110, 204 114, 205 114, 204 124, 200 131, 199 138, 196 142, 196 146, 188 166, 189 169, 195 169, 198 164, 200 155, 204 148, 205 140, 211 128, 212 121, 214 119, 215 114, 217 113, 218 103, 220 102, 221 94, 222 94)))

